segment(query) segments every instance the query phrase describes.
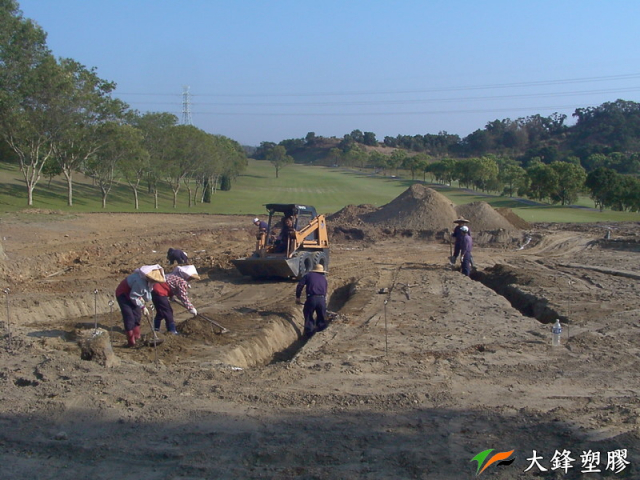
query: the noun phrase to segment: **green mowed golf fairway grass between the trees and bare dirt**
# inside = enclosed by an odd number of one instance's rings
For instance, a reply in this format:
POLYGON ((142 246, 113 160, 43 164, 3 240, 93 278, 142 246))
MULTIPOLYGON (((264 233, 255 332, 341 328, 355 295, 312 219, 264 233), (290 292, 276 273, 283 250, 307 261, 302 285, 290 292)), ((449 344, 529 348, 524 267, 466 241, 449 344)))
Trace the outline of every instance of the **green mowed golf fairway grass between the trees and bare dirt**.
MULTIPOLYGON (((267 203, 299 203, 316 207, 319 213, 331 214, 346 205, 389 203, 412 183, 404 172, 399 177, 374 175, 369 169, 328 168, 309 165, 287 165, 280 170, 267 161, 249 160, 249 166, 232 184, 229 191, 217 191, 209 204, 188 206, 187 189, 181 186, 177 206, 174 209, 173 193, 167 186, 161 188, 159 208, 155 209, 153 196, 142 184, 139 188, 138 212, 210 213, 229 215, 257 215, 265 213, 267 203)), ((133 193, 124 182, 115 185, 107 198, 107 208, 102 209, 100 191, 90 178, 76 174, 74 179, 74 205, 67 206, 66 181, 63 177, 42 178, 34 192, 32 208, 53 209, 65 212, 135 212, 133 193)), ((418 180, 416 180, 418 181, 418 180)), ((548 205, 516 198, 486 195, 482 192, 428 184, 447 196, 455 205, 484 201, 495 208, 511 208, 529 222, 621 222, 639 221, 639 213, 599 212, 593 202, 582 197, 578 208, 548 205)), ((0 163, 0 212, 13 212, 27 208, 26 187, 22 174, 15 165, 0 163)))

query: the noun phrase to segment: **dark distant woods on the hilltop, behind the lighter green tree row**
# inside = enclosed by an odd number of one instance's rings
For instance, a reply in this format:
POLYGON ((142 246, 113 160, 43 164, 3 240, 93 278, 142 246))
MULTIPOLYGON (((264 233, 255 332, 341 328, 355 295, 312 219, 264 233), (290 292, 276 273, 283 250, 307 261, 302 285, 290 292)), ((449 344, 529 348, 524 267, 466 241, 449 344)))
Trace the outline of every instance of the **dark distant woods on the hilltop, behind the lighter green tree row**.
MULTIPOLYGON (((410 153, 424 153, 435 159, 507 156, 526 168, 542 161, 577 161, 587 172, 606 167, 618 173, 640 174, 640 104, 625 100, 606 102, 598 107, 578 108, 573 114, 575 125, 566 125, 566 115, 548 117, 532 115, 516 120, 488 122, 464 138, 447 132, 425 135, 398 135, 376 140, 373 132, 353 130, 337 140, 334 148, 341 150, 343 159, 359 161, 361 150, 372 146, 403 149, 410 153), (355 150, 350 153, 351 150, 355 150)), ((296 157, 304 150, 314 149, 325 141, 309 132, 304 139, 280 142, 287 154, 296 157)), ((273 144, 265 143, 271 148, 273 144)), ((261 147, 256 152, 260 158, 261 147)), ((332 160, 339 158, 331 153, 332 160)))

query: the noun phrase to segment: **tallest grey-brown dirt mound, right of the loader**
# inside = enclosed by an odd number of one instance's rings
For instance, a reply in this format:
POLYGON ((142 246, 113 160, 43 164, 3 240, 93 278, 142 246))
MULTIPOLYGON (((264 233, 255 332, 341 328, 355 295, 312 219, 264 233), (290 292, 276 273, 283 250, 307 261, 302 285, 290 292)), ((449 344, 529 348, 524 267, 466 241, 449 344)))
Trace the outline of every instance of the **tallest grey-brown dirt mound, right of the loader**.
POLYGON ((456 211, 444 195, 419 183, 375 212, 362 215, 365 223, 406 230, 448 230, 456 211))

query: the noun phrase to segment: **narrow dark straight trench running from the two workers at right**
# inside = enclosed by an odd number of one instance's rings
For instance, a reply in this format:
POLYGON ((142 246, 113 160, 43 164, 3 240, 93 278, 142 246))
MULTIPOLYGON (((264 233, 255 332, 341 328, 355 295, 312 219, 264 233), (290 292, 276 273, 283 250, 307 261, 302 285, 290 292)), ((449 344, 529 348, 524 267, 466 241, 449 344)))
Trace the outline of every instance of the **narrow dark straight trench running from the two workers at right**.
POLYGON ((476 280, 498 295, 506 298, 511 306, 527 317, 532 317, 541 323, 549 324, 560 319, 568 322, 568 318, 560 315, 546 298, 523 290, 520 281, 520 272, 504 265, 494 265, 483 271, 473 271, 471 278, 476 280))

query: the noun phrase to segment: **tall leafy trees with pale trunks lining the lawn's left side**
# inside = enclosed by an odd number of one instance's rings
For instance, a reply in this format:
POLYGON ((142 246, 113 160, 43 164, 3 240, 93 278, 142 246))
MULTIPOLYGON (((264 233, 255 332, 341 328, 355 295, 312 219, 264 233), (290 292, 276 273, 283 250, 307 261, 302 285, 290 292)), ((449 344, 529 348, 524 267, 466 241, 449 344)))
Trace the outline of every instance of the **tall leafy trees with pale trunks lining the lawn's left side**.
POLYGON ((140 113, 111 97, 115 83, 69 58, 56 59, 46 33, 24 18, 15 0, 0 0, 0 158, 16 162, 27 204, 43 175, 64 175, 73 205, 73 174, 94 179, 105 207, 125 182, 135 208, 142 186, 168 185, 176 206, 184 186, 189 206, 210 202, 217 188, 246 168, 243 148, 227 137, 178 124, 165 112, 140 113))

